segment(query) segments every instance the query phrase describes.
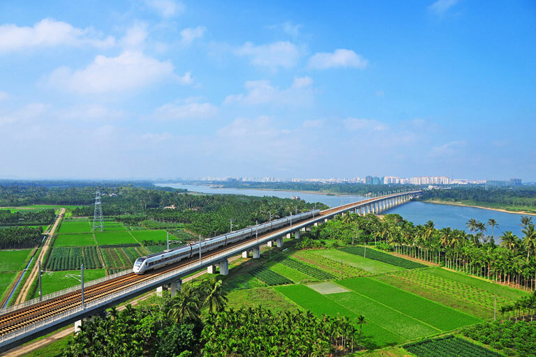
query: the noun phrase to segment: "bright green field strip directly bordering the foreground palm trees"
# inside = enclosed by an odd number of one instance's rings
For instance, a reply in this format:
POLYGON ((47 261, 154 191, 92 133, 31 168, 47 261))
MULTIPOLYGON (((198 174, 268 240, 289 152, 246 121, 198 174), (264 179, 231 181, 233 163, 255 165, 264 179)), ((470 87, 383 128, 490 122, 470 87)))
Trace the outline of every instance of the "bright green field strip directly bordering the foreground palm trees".
MULTIPOLYGON (((313 289, 301 284, 285 285, 275 287, 277 291, 294 301, 305 310, 311 310, 313 314, 322 317, 322 314, 329 316, 349 317, 350 320, 357 318, 359 314, 340 305, 337 301, 327 298, 329 295, 322 295, 313 289)), ((344 293, 350 294, 350 293, 344 293)), ((392 346, 405 342, 406 339, 388 328, 380 326, 374 319, 367 317, 368 324, 363 326, 363 344, 367 349, 392 346)))

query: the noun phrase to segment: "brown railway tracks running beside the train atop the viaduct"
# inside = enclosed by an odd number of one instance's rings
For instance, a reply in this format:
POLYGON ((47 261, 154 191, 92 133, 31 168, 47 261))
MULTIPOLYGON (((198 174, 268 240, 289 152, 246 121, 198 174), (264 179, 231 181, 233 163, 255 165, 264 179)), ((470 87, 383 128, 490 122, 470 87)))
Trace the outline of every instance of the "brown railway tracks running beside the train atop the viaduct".
MULTIPOLYGON (((374 200, 375 199, 366 199, 362 202, 359 202, 359 204, 366 204, 374 200)), ((343 206, 338 206, 336 208, 329 208, 325 211, 320 212, 320 216, 332 215, 338 211, 348 209, 355 205, 356 205, 355 203, 352 203, 352 204, 345 204, 343 206)), ((315 220, 318 220, 318 217, 300 221, 299 224, 302 225, 304 223, 313 222, 315 220)), ((287 227, 283 227, 280 229, 275 229, 274 231, 270 231, 267 234, 263 234, 262 236, 259 237, 259 239, 264 239, 264 238, 267 238, 267 236, 269 235, 277 234, 278 232, 283 232, 285 230, 288 230, 288 228, 289 227, 287 226, 287 227)), ((257 238, 251 237, 244 241, 239 241, 232 245, 227 245, 220 250, 207 252, 204 255, 202 255, 202 259, 209 259, 210 257, 219 255, 227 250, 232 250, 234 248, 237 248, 240 245, 244 245, 244 246, 250 245, 256 240, 257 238)), ((178 264, 174 264, 172 266, 161 268, 157 271, 151 271, 143 275, 137 275, 135 273, 128 273, 118 278, 106 280, 99 284, 92 285, 91 287, 87 287, 84 289, 84 303, 89 303, 91 301, 98 300, 99 298, 103 298, 104 296, 114 294, 115 292, 121 291, 128 287, 132 287, 136 284, 140 284, 147 280, 158 278, 158 276, 160 275, 164 275, 166 273, 174 271, 177 268, 182 268, 184 266, 187 266, 188 264, 191 264, 193 261, 197 261, 197 260, 198 260, 198 257, 192 257, 190 259, 186 259, 185 261, 181 261, 178 264)), ((14 310, 12 312, 3 314, 0 316, 0 336, 6 335, 7 333, 16 331, 20 328, 24 328, 25 326, 29 326, 38 321, 43 321, 56 314, 60 314, 61 312, 66 312, 70 309, 73 309, 74 307, 80 306, 81 303, 82 303, 82 293, 80 290, 77 290, 77 291, 73 291, 68 294, 65 294, 63 296, 58 296, 57 298, 53 298, 47 301, 43 301, 41 303, 23 307, 19 310, 14 310)))

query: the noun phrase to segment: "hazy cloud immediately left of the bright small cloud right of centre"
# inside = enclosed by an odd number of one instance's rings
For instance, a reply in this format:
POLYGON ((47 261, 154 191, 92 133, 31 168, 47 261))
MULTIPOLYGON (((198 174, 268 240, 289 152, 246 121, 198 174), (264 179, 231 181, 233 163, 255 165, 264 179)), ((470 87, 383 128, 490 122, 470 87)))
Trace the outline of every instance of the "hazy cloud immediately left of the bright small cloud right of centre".
POLYGON ((296 66, 301 56, 301 50, 288 41, 259 46, 247 42, 236 50, 236 54, 249 57, 255 66, 276 70, 278 67, 292 68, 296 66))

